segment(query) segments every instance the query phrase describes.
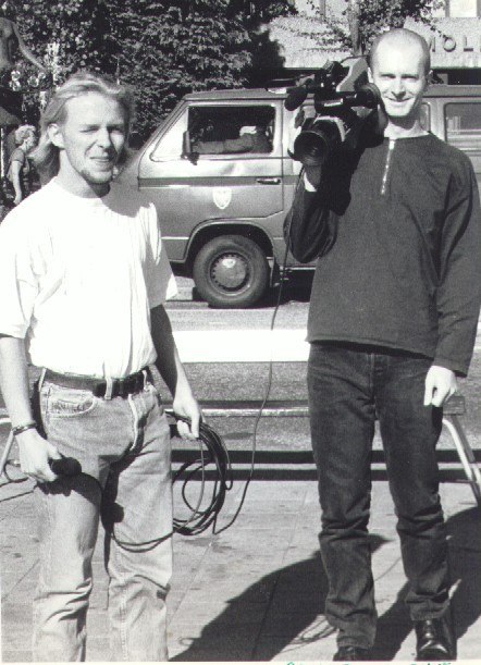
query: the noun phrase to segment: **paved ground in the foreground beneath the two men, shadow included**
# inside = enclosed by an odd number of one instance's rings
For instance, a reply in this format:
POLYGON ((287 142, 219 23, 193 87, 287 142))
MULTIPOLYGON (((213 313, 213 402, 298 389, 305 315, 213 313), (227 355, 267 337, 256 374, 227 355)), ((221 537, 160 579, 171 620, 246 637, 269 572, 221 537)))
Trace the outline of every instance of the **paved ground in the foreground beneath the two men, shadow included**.
MULTIPOLYGON (((229 493, 220 526, 235 510, 243 482, 229 493)), ((459 658, 481 653, 479 509, 470 489, 443 483, 449 529, 459 658)), ((180 500, 175 503, 177 510, 180 500)), ((173 661, 329 661, 335 635, 322 614, 325 576, 319 561, 314 481, 254 481, 240 516, 219 535, 175 537, 169 599, 173 661)), ((37 577, 32 483, 0 488, 3 662, 28 662, 30 598, 37 577)), ((378 660, 412 661, 414 636, 403 604, 405 578, 387 483, 373 483, 371 520, 379 607, 378 660)), ((88 661, 108 658, 107 579, 101 546, 88 661)))

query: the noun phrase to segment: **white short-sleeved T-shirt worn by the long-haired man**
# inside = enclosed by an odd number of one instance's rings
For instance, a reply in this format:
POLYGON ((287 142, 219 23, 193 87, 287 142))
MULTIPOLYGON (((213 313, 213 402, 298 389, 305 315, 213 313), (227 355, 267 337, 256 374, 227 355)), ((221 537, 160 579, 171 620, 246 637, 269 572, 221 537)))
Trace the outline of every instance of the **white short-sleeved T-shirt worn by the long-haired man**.
POLYGON ((0 226, 0 333, 30 361, 121 378, 153 362, 150 310, 176 293, 152 204, 112 184, 82 198, 53 178, 0 226))

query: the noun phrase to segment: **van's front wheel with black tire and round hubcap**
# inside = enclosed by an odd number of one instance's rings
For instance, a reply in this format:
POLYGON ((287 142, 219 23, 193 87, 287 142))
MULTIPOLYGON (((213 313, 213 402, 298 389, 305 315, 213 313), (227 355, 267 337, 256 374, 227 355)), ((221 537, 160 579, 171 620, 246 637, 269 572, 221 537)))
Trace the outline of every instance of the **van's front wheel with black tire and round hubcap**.
POLYGON ((212 307, 250 307, 264 294, 269 266, 254 241, 222 235, 209 241, 194 260, 194 281, 212 307))

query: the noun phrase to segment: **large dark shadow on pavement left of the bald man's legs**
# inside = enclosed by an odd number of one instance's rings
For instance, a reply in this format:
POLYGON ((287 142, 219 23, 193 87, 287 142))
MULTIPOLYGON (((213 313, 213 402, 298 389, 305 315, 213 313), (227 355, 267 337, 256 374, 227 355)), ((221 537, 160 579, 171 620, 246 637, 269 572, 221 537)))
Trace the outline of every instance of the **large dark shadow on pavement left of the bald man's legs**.
MULTIPOLYGON (((384 542, 379 535, 371 535, 370 540, 372 551, 384 542)), ((333 633, 322 616, 326 593, 328 580, 320 552, 316 552, 308 559, 262 577, 233 598, 229 607, 205 626, 200 637, 171 660, 271 661, 282 651, 287 660, 289 645, 295 652, 303 644, 333 633), (270 590, 269 598, 266 589, 270 590), (249 625, 248 637, 239 644, 237 636, 240 630, 245 633, 245 626, 239 623, 248 619, 249 614, 254 616, 252 599, 256 598, 264 607, 259 621, 249 625)))

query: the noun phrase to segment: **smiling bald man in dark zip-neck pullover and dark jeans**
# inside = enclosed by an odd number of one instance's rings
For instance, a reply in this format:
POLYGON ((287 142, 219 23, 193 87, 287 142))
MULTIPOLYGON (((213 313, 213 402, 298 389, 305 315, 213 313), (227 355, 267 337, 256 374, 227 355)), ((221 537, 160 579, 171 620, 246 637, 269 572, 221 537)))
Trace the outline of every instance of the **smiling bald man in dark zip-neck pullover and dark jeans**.
MULTIPOLYGON (((435 446, 442 407, 466 375, 481 284, 479 195, 459 150, 423 130, 425 41, 384 33, 370 56, 380 123, 306 168, 285 234, 319 257, 308 391, 334 661, 372 655, 377 611, 368 521, 379 419, 418 660, 455 657, 435 446)), ((380 654, 382 656, 382 654, 380 654)), ((379 657, 379 655, 378 655, 379 657)))

